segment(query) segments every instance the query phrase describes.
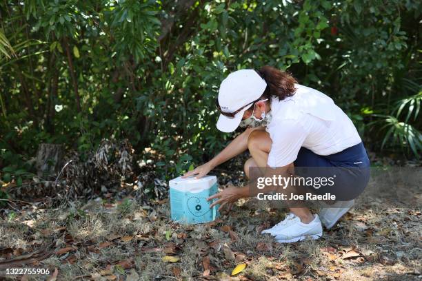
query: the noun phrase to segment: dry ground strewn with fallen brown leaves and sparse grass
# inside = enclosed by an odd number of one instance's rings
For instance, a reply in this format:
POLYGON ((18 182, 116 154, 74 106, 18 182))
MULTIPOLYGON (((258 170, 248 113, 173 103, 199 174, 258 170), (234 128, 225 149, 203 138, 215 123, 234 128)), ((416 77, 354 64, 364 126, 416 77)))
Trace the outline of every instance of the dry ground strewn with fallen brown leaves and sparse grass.
POLYGON ((26 205, 0 222, 0 269, 23 263, 50 269, 50 280, 421 280, 421 209, 367 201, 320 240, 292 244, 259 234, 285 211, 257 200, 188 226, 169 220, 168 200, 26 205))

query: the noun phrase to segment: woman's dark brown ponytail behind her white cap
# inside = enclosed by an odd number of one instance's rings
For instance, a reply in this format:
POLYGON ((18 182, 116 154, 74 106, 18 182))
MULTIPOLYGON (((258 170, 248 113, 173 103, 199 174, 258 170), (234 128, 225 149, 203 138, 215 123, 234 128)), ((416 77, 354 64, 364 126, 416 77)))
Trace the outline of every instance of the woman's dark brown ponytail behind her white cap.
POLYGON ((267 83, 267 87, 262 94, 263 98, 271 100, 271 96, 274 96, 279 98, 279 101, 282 101, 287 96, 294 95, 296 91, 294 83, 297 83, 297 81, 288 72, 277 70, 277 68, 270 65, 261 67, 257 72, 267 83))

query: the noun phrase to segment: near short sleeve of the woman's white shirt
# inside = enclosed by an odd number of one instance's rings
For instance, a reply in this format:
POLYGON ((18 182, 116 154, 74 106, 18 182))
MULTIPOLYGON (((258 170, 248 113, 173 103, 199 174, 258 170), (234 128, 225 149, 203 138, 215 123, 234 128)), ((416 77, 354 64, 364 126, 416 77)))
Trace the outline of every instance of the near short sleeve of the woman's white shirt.
POLYGON ((307 136, 307 132, 297 120, 285 120, 270 130, 272 140, 267 165, 284 167, 294 162, 307 136))

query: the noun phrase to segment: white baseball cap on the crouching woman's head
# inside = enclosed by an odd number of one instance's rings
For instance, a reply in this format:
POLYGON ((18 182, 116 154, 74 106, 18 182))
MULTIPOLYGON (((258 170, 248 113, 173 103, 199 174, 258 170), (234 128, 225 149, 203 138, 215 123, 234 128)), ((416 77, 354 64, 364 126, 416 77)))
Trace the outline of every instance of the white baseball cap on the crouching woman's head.
POLYGON ((259 99, 267 87, 267 83, 255 70, 237 70, 221 82, 219 89, 219 106, 221 112, 234 116, 220 114, 217 129, 221 132, 233 132, 241 123, 243 113, 259 99))

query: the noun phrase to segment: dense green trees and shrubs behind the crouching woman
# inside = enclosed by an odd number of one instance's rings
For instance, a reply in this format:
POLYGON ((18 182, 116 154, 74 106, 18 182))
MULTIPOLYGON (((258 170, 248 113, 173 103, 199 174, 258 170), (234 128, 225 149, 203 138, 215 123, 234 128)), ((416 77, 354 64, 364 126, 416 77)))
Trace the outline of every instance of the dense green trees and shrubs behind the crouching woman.
POLYGON ((40 143, 82 155, 132 143, 168 177, 232 136, 214 103, 229 72, 273 65, 325 92, 368 148, 421 152, 422 2, 0 1, 0 168, 40 143), (153 154, 153 155, 152 155, 153 154))

